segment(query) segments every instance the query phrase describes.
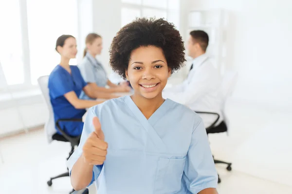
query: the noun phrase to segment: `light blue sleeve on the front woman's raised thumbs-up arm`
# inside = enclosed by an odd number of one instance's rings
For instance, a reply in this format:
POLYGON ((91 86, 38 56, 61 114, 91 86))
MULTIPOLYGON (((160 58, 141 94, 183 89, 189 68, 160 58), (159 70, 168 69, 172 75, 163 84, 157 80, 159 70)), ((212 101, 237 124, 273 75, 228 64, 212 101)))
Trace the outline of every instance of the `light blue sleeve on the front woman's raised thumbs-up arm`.
MULTIPOLYGON (((92 119, 94 116, 96 116, 96 115, 93 112, 93 108, 90 108, 88 110, 87 115, 86 115, 86 119, 84 122, 82 134, 81 134, 80 143, 79 143, 77 149, 73 152, 73 154, 71 155, 71 157, 67 161, 67 166, 69 168, 70 176, 71 176, 71 171, 72 171, 73 165, 82 155, 82 147, 84 146, 84 143, 88 139, 91 132, 94 130, 94 127, 92 124, 92 119)), ((93 166, 93 175, 92 175, 91 183, 89 185, 91 185, 95 180, 97 180, 97 178, 102 170, 102 167, 103 167, 103 165, 93 166)))

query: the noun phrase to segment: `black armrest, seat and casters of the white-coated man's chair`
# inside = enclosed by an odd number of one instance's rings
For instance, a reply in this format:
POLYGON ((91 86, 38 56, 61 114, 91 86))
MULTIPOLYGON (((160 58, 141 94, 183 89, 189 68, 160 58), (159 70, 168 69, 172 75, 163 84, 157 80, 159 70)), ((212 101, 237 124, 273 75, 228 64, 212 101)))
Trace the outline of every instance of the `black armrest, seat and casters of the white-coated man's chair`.
MULTIPOLYGON (((216 123, 219 120, 219 117, 220 117, 218 113, 209 113, 209 112, 196 112, 196 113, 213 114, 213 115, 217 116, 217 119, 212 123, 212 125, 210 125, 208 128, 206 128, 207 135, 209 133, 222 133, 222 132, 226 132, 227 131, 227 125, 226 125, 226 123, 224 121, 222 121, 219 125, 215 126, 216 123)), ((214 160, 215 164, 217 164, 217 163, 227 164, 226 169, 228 171, 232 170, 232 167, 231 167, 232 163, 216 160, 216 159, 214 159, 214 156, 213 156, 213 160, 214 160)), ((221 182, 221 179, 220 179, 220 177, 218 175, 218 183, 220 183, 220 182, 221 182)))

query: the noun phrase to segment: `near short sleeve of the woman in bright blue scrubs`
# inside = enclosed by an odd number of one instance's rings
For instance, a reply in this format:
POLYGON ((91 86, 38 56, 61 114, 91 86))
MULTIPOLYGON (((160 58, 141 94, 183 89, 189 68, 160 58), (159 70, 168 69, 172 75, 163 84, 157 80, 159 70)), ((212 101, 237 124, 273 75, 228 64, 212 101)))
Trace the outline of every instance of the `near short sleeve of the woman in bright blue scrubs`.
POLYGON ((73 82, 66 75, 57 71, 50 75, 48 87, 53 98, 64 96, 74 90, 73 82))

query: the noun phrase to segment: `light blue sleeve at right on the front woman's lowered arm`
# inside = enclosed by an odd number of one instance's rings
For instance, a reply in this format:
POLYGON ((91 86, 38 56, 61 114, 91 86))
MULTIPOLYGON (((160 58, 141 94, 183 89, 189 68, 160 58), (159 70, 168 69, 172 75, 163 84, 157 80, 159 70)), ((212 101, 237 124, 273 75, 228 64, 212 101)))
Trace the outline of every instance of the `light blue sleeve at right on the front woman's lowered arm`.
POLYGON ((194 127, 183 178, 192 194, 207 188, 217 188, 218 175, 202 121, 194 127))

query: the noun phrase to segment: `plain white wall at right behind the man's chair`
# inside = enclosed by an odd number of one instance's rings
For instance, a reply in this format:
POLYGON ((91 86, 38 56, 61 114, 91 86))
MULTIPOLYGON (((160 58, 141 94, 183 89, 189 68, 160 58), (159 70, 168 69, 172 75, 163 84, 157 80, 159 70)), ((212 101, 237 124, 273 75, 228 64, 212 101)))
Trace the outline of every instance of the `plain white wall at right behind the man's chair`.
POLYGON ((234 98, 292 110, 292 1, 190 0, 189 7, 229 12, 234 98))

